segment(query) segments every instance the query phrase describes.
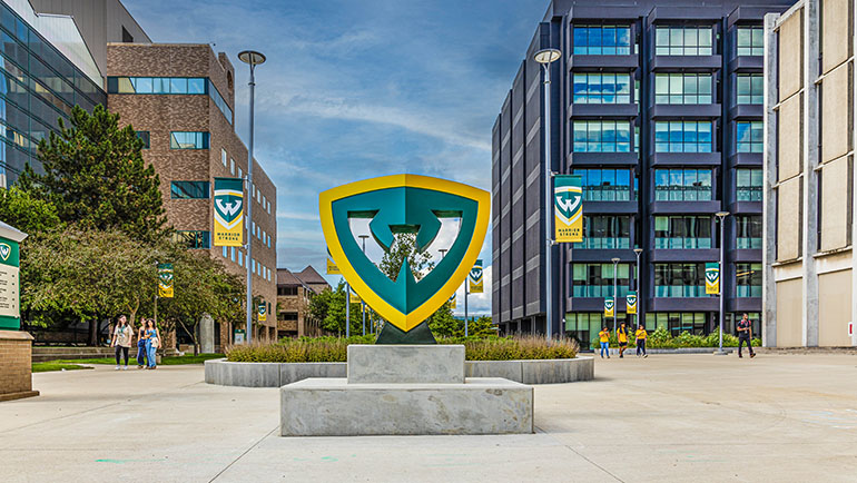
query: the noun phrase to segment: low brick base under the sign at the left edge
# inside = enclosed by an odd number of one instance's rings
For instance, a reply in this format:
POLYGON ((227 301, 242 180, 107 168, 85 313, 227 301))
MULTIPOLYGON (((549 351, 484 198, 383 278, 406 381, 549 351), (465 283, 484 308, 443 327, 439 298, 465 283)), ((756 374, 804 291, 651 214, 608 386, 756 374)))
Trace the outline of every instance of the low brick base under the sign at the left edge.
POLYGON ((0 401, 38 395, 32 390, 32 336, 0 331, 0 401))

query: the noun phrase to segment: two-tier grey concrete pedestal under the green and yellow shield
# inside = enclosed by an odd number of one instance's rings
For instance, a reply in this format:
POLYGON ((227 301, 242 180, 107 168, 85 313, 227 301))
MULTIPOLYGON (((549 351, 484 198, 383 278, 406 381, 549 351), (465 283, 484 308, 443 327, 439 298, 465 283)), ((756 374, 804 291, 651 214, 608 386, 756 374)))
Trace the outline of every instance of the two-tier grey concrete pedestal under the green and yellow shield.
POLYGON ((347 378, 280 388, 280 435, 533 432, 533 388, 464 377, 464 346, 348 346, 347 378))

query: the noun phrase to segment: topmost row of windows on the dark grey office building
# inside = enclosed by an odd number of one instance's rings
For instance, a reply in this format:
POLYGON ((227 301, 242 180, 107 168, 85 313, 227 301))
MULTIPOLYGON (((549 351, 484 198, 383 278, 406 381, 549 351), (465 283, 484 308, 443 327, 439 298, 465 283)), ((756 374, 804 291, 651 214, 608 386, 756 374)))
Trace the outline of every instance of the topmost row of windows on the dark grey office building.
MULTIPOLYGON (((738 27, 736 53, 762 56, 765 31, 761 27, 738 27)), ((580 24, 573 27, 573 53, 585 56, 627 56, 631 53, 630 26, 580 24)), ((654 29, 657 56, 711 56, 711 26, 668 26, 654 29)))

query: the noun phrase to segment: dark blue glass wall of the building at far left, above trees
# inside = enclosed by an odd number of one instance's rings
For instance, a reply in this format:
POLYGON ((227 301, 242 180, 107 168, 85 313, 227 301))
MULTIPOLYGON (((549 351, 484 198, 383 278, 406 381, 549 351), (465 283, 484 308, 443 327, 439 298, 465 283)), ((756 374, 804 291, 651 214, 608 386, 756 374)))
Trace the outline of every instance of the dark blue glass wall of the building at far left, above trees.
MULTIPOLYGON (((12 9, 7 2, 0 2, 2 187, 14 184, 27 164, 37 171, 41 169, 37 157, 39 141, 48 138, 51 131, 59 132, 59 119, 68 120, 75 105, 91 111, 95 106, 107 103, 107 95, 98 83, 100 78, 96 77, 97 69, 90 68, 93 65, 69 60, 31 24, 39 17, 27 14, 21 10, 23 7, 16 7, 12 9), (21 11, 29 21, 19 14, 21 11), (89 72, 83 72, 81 66, 89 72)), ((80 57, 80 52, 86 51, 82 38, 69 31, 70 18, 43 19, 40 27, 52 29, 50 37, 62 40, 65 52, 80 57)))

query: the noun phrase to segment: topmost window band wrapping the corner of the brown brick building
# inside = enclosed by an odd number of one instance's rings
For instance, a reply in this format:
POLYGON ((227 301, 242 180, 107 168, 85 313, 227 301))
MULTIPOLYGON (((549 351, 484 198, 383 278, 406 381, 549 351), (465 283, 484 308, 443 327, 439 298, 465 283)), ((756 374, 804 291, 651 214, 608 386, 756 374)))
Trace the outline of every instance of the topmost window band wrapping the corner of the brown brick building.
POLYGON ((207 77, 108 77, 108 93, 208 95, 233 124, 233 110, 207 77))

